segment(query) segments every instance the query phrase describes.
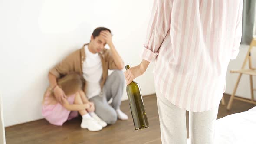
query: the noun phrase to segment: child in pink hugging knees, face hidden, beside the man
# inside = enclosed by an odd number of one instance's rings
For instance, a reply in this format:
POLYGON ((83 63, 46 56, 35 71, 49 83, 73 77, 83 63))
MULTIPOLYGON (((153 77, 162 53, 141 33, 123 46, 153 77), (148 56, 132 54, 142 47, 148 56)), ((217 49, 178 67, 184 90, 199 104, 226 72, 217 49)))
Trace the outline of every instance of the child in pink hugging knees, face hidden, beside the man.
POLYGON ((67 120, 82 115, 81 128, 89 131, 100 131, 107 126, 95 113, 95 107, 89 102, 82 91, 82 79, 76 73, 71 73, 57 80, 58 86, 65 92, 62 104, 56 101, 53 90, 47 88, 42 104, 42 115, 50 124, 61 126, 67 120))

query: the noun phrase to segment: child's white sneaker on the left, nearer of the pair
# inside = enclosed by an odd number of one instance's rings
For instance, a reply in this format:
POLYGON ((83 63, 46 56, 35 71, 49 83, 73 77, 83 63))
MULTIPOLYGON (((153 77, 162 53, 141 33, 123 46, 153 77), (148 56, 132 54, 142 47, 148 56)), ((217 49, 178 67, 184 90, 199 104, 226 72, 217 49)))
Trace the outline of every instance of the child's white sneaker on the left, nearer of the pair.
POLYGON ((81 128, 87 128, 89 131, 100 131, 102 126, 99 125, 93 118, 83 118, 81 128))

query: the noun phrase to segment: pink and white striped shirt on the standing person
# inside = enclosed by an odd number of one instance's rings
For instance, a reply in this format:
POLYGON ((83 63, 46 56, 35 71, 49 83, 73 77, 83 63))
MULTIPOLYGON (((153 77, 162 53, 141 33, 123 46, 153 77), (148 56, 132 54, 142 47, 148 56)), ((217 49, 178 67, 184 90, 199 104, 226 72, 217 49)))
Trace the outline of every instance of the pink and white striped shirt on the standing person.
POLYGON ((243 0, 155 0, 142 59, 156 88, 194 112, 216 108, 227 66, 239 52, 243 0))

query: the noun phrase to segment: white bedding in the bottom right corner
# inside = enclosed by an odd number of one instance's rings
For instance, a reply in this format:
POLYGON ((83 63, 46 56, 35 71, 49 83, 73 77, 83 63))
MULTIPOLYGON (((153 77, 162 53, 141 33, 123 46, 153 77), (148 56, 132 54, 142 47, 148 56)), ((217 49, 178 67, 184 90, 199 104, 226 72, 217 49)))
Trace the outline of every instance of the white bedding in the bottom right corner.
POLYGON ((256 107, 218 119, 215 144, 256 144, 256 107))

